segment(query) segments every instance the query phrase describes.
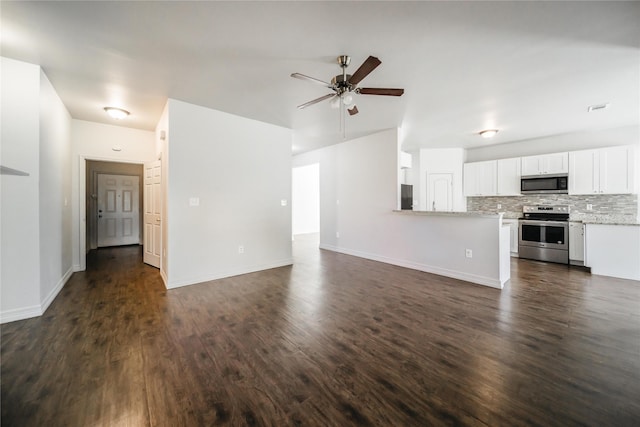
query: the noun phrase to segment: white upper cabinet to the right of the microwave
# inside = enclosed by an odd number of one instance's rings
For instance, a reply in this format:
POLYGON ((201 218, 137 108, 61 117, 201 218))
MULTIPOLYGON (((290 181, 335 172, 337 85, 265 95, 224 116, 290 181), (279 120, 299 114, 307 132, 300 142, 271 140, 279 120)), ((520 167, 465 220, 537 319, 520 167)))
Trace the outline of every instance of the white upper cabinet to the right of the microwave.
POLYGON ((569 153, 569 194, 635 193, 633 146, 569 153))

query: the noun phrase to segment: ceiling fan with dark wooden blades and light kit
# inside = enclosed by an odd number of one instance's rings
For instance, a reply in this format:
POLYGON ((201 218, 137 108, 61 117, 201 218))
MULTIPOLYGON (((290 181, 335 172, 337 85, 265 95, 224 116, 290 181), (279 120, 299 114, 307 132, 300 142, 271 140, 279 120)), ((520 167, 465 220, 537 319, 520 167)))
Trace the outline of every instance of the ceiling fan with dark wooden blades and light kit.
POLYGON ((382 61, 380 61, 375 56, 370 56, 366 61, 362 63, 360 68, 358 68, 355 73, 347 74, 347 67, 349 66, 350 62, 351 57, 347 55, 338 56, 338 65, 342 68, 342 74, 338 74, 337 76, 333 77, 331 79, 331 83, 313 77, 305 76, 304 74, 300 73, 291 74, 291 77, 293 78, 306 80, 308 82, 322 85, 328 89, 333 90, 334 92, 311 100, 309 102, 305 102, 304 104, 298 105, 298 108, 307 108, 326 99, 331 99, 332 107, 338 108, 339 106, 344 105, 347 108, 349 115, 353 116, 354 114, 358 114, 358 107, 356 107, 355 105, 353 94, 401 96, 404 93, 404 89, 358 87, 358 83, 360 83, 365 77, 367 77, 369 73, 375 70, 378 65, 382 64, 382 61))

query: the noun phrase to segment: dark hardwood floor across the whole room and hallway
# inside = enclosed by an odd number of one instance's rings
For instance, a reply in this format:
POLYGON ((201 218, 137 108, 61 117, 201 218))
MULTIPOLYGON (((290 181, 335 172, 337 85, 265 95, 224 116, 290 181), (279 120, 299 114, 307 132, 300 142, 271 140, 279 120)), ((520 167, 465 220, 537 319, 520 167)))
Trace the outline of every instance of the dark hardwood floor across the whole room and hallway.
POLYGON ((294 243, 165 290, 90 253, 2 325, 2 426, 638 426, 640 282, 513 260, 499 291, 294 243))

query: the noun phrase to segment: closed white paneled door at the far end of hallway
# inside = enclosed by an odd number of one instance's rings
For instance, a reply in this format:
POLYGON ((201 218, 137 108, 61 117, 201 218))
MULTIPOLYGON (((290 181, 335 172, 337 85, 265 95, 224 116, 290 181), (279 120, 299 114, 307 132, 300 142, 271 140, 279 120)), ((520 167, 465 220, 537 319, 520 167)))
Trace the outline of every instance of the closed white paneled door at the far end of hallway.
POLYGON ((98 174, 98 247, 140 244, 140 179, 98 174))

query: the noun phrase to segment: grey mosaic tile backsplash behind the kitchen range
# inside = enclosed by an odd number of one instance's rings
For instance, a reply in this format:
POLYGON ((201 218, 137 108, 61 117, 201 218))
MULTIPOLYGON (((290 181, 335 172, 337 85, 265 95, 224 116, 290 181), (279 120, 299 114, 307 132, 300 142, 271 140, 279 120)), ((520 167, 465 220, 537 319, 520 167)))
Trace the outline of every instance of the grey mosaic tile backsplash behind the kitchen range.
POLYGON ((569 205, 571 219, 590 220, 602 217, 636 220, 637 194, 594 194, 570 196, 568 194, 539 194, 526 196, 467 197, 468 211, 505 212, 505 218, 518 218, 524 205, 569 205), (592 210, 587 210, 587 204, 592 210), (498 208, 498 205, 501 205, 498 208))

